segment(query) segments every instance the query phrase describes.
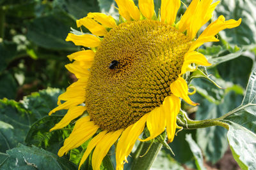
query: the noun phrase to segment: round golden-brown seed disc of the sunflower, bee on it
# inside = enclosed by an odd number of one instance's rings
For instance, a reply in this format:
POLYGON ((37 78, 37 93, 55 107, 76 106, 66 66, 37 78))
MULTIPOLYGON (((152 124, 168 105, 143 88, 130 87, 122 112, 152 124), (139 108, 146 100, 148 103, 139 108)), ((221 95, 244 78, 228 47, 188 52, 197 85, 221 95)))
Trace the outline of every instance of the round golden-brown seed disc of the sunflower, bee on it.
POLYGON ((188 36, 155 20, 111 29, 97 48, 85 89, 91 120, 117 131, 163 104, 190 45, 188 36))

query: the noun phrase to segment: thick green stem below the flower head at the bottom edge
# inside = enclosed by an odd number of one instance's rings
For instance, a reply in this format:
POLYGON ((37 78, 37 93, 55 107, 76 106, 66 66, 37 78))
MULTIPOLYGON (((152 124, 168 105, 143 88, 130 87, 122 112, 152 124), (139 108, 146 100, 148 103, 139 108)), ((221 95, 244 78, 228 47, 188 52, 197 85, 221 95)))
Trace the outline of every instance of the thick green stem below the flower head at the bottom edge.
MULTIPOLYGON (((142 143, 142 142, 141 142, 142 143)), ((141 144, 142 148, 140 150, 140 156, 144 155, 147 152, 150 143, 143 143, 141 144)), ((147 154, 143 157, 134 157, 132 160, 132 170, 148 170, 152 166, 158 152, 161 150, 162 144, 161 143, 153 143, 150 149, 148 150, 147 154)))

